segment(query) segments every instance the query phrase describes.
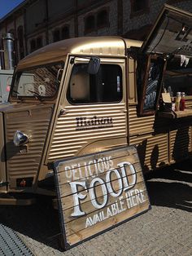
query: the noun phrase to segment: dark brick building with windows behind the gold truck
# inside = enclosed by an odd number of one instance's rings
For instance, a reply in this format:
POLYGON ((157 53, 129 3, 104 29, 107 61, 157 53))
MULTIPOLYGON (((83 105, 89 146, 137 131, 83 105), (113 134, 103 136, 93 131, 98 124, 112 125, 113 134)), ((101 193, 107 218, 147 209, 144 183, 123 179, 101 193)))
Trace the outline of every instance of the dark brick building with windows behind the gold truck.
POLYGON ((14 35, 16 61, 65 38, 120 35, 143 40, 164 3, 192 11, 191 0, 25 0, 0 20, 0 38, 14 35))

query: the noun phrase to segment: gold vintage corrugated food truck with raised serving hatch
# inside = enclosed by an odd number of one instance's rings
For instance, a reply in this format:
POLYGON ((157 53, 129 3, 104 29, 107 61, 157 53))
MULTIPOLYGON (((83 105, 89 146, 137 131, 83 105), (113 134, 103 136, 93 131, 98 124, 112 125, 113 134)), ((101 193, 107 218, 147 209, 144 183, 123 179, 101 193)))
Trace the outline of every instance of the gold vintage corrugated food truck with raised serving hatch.
POLYGON ((165 6, 143 43, 72 38, 20 60, 0 107, 1 203, 55 195, 52 163, 69 157, 137 145, 145 171, 189 157, 191 29, 191 13, 165 6), (172 109, 177 91, 184 111, 172 109))

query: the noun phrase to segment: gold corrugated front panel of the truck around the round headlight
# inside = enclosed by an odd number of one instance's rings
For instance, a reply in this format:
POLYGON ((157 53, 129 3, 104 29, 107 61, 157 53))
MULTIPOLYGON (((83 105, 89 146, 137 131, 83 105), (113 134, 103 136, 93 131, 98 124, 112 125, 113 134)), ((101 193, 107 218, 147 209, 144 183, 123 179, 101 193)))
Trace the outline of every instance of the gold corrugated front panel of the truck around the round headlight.
POLYGON ((34 182, 37 177, 51 113, 51 106, 6 113, 7 178, 10 187, 16 186, 16 179, 30 177, 34 182), (27 146, 15 147, 13 135, 16 130, 30 136, 27 146))

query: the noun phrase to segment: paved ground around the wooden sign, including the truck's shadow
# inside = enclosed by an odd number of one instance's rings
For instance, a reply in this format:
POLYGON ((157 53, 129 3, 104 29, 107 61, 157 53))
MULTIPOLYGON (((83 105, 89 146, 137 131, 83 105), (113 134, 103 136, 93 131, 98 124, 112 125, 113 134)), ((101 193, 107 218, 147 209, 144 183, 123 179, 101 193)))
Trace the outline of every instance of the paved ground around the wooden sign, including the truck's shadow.
POLYGON ((192 255, 192 160, 147 178, 152 210, 66 252, 59 250, 58 213, 41 198, 28 207, 1 206, 0 221, 38 256, 192 255))

